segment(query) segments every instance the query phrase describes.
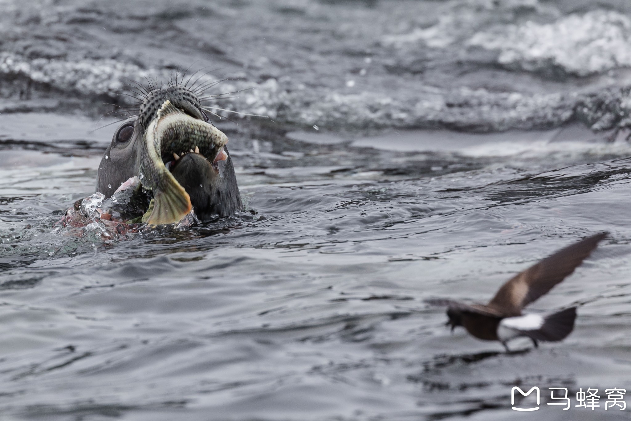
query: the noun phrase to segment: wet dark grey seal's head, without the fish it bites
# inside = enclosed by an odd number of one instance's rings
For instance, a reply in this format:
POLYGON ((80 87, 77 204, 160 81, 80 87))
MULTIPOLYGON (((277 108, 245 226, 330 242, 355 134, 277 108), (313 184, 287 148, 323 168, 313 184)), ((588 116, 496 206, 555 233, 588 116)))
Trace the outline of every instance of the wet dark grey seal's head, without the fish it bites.
MULTIPOLYGON (((122 122, 103 154, 96 191, 103 193, 105 198, 110 198, 117 187, 130 177, 141 173, 143 154, 146 154, 146 151, 143 152, 143 139, 151 124, 156 123, 158 112, 166 102, 187 118, 211 124, 194 88, 174 84, 144 91, 138 115, 122 122)), ((162 160, 170 175, 186 190, 198 218, 204 221, 242 210, 237 177, 228 148, 223 147, 225 153, 221 157, 208 155, 215 151, 202 149, 199 153, 199 150, 193 150, 193 146, 190 149, 181 151, 185 155, 179 159, 174 159, 173 154, 162 154, 162 160), (220 160, 216 161, 215 158, 220 160)))

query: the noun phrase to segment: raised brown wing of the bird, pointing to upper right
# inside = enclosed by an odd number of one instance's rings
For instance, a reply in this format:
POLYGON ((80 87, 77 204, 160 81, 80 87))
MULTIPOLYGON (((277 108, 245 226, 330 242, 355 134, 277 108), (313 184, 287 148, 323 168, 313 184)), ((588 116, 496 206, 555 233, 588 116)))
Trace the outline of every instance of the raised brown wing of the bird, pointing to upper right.
POLYGON ((567 275, 574 272, 576 266, 579 266, 596 248, 598 242, 606 236, 606 232, 592 235, 557 251, 514 276, 502 285, 495 297, 487 304, 488 307, 507 317, 518 316, 526 305, 546 294, 567 275))

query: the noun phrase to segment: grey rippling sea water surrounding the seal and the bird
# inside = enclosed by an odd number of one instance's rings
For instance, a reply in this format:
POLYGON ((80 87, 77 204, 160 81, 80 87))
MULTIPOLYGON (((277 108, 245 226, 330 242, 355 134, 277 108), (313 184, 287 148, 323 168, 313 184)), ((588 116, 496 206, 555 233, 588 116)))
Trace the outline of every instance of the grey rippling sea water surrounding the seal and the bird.
POLYGON ((627 2, 0 8, 0 419, 629 418, 603 393, 631 389, 627 2), (251 212, 54 227, 93 193, 100 104, 191 64, 256 88, 220 107, 272 117, 218 123, 251 212), (486 300, 601 230, 533 305, 581 305, 562 343, 505 353, 423 303, 486 300), (540 411, 510 410, 516 385, 540 411), (546 406, 548 387, 601 407, 546 406))

